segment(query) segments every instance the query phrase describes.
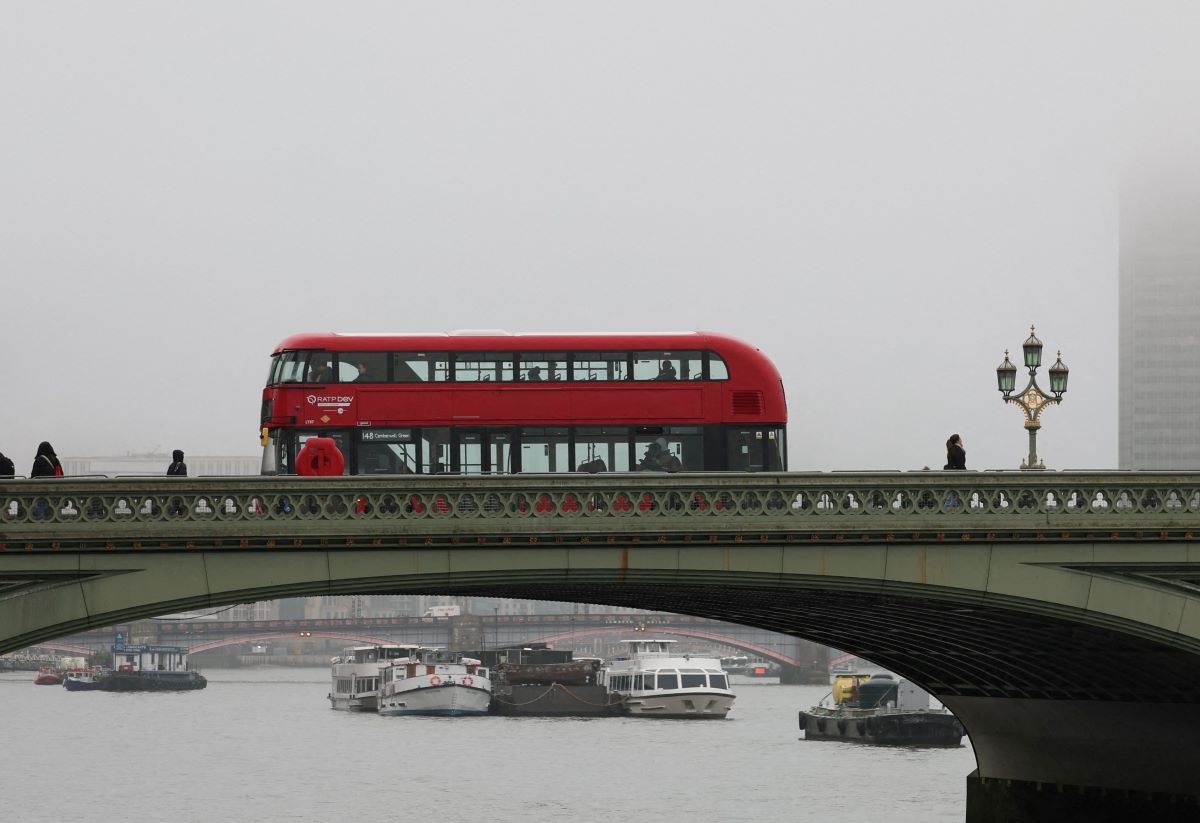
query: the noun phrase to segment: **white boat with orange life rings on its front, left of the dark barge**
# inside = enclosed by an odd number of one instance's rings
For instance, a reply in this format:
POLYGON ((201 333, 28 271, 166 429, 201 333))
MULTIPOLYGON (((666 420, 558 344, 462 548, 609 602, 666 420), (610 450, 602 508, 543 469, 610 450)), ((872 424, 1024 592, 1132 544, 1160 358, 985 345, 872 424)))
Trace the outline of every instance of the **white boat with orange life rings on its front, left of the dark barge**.
POLYGON ((443 649, 419 649, 379 669, 379 714, 487 714, 492 680, 480 661, 443 649))

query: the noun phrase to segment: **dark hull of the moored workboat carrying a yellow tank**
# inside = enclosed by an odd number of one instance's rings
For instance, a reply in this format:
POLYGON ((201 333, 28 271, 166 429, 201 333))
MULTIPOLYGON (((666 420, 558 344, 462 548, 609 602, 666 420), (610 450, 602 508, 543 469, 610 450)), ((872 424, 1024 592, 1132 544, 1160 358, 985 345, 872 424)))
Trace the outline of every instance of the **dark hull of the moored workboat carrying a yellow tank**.
POLYGON ((799 713, 806 740, 848 740, 881 746, 956 747, 964 729, 949 711, 857 710, 838 711, 815 707, 799 713))

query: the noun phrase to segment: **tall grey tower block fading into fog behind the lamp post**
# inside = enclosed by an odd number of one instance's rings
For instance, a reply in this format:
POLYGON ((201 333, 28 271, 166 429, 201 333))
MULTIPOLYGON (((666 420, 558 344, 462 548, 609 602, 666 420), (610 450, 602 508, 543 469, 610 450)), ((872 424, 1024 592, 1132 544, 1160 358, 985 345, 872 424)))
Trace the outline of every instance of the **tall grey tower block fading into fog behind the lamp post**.
POLYGON ((1121 468, 1200 469, 1200 178, 1121 193, 1121 468))

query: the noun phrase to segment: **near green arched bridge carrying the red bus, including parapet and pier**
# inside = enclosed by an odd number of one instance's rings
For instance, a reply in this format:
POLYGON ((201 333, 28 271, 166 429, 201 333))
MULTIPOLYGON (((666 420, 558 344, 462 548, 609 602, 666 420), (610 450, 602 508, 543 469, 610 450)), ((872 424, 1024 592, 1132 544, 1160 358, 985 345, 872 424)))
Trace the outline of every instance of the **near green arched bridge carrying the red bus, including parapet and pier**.
POLYGON ((1200 735, 1162 733, 1200 728, 1198 534, 1198 474, 4 481, 0 650, 308 594, 661 609, 924 685, 971 734, 972 819, 1184 819, 1200 735))

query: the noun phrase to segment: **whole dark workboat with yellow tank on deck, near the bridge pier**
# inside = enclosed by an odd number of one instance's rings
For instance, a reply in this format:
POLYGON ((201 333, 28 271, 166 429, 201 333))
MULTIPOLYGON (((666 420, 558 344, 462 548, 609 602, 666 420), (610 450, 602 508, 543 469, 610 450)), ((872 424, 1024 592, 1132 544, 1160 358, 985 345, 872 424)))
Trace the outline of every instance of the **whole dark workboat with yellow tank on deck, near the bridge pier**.
MULTIPOLYGON (((839 674, 833 705, 799 713, 805 740, 850 740, 888 746, 962 745, 962 725, 931 709, 929 692, 894 674, 839 674)), ((827 696, 828 697, 828 696, 827 696)))

